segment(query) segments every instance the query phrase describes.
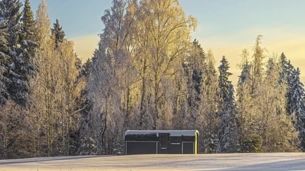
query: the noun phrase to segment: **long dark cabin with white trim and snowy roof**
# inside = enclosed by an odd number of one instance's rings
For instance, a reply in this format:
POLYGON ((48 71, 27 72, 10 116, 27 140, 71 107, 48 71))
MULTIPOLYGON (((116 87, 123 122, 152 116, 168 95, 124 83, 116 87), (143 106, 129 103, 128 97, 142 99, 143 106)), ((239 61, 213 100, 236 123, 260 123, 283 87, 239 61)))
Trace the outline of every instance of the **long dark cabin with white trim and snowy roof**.
POLYGON ((198 154, 198 130, 127 130, 125 154, 198 154))

